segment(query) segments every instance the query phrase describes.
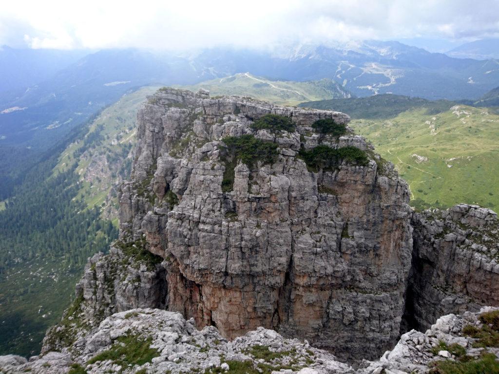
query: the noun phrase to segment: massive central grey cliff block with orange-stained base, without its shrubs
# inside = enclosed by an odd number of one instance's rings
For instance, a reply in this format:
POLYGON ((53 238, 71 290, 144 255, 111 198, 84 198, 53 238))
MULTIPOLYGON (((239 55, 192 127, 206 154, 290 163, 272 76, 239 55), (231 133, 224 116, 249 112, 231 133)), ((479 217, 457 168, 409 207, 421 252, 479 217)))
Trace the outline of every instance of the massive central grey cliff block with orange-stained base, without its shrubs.
POLYGON ((145 235, 148 250, 165 259, 168 310, 227 338, 263 326, 343 358, 391 347, 411 261, 407 184, 391 164, 381 171, 374 155, 364 167, 309 172, 296 157, 301 147, 371 152, 350 132, 315 133, 322 118, 349 121, 205 92, 164 89, 149 98, 120 220, 123 238, 145 235), (268 113, 291 118, 296 132, 252 130, 268 113), (239 163, 224 192, 222 139, 244 134, 277 143, 277 161, 239 163))

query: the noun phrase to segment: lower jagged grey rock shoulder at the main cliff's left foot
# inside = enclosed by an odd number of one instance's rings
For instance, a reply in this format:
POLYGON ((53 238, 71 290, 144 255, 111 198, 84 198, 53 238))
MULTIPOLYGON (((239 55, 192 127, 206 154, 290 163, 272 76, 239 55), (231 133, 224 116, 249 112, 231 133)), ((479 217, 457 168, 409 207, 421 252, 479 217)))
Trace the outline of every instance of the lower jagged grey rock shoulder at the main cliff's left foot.
POLYGON ((85 343, 84 336, 97 332, 100 322, 116 312, 165 309, 165 268, 148 252, 130 253, 133 245, 111 246, 108 255, 97 253, 89 259, 76 285, 75 300, 43 339, 42 354, 67 347, 78 349, 85 343))

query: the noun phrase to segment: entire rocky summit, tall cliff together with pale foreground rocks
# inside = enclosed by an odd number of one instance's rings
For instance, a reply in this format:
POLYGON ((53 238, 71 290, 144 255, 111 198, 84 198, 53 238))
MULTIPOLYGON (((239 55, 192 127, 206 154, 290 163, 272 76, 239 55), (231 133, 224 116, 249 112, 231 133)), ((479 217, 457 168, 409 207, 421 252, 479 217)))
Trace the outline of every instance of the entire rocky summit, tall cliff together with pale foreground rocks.
POLYGON ((413 212, 348 122, 160 89, 138 114, 119 240, 89 260, 41 356, 0 368, 423 373, 457 357, 442 344, 480 356, 462 327, 499 306, 497 214, 413 212))

